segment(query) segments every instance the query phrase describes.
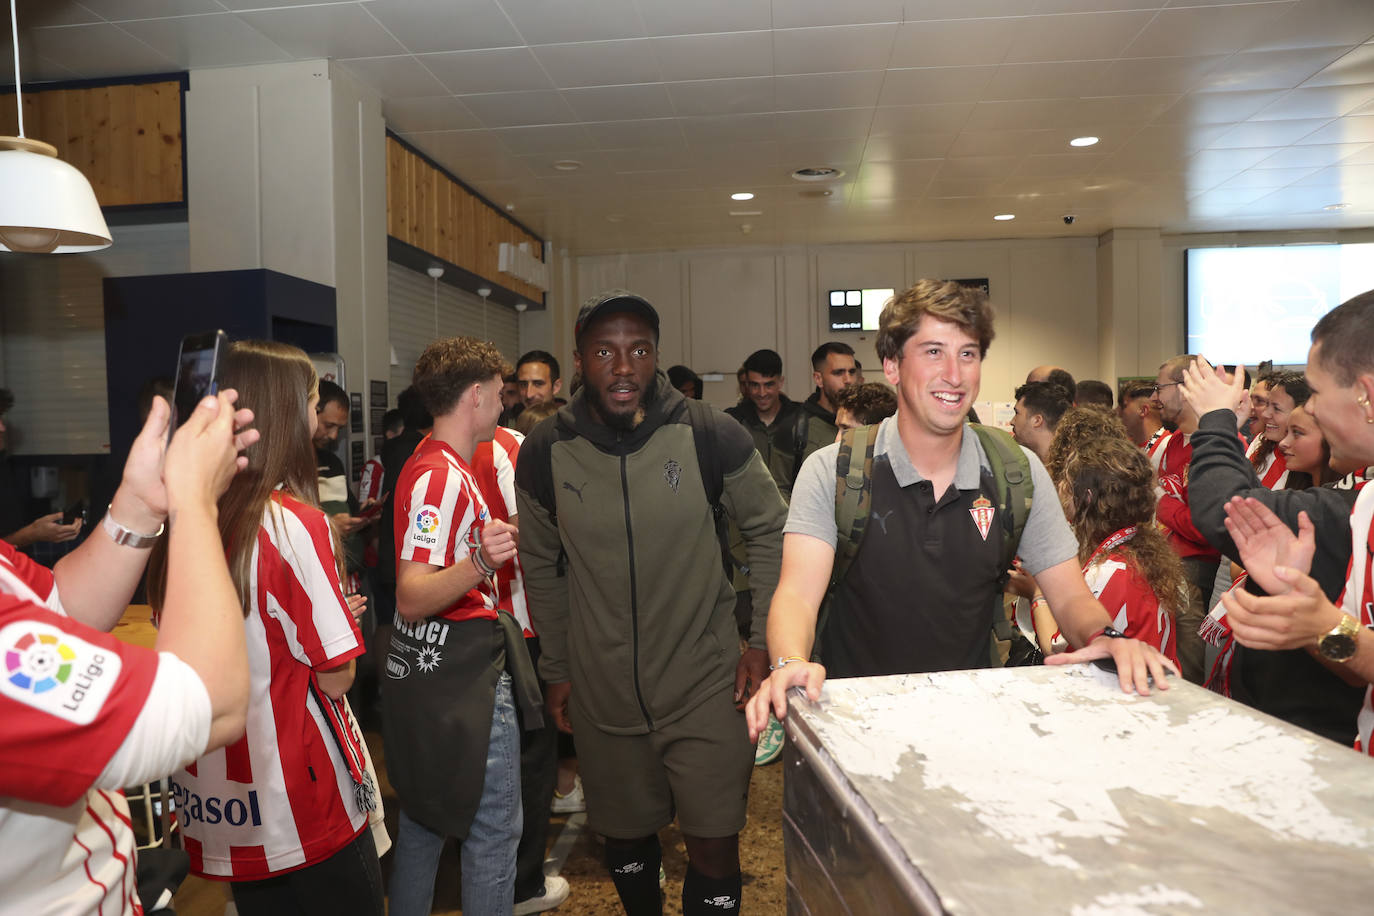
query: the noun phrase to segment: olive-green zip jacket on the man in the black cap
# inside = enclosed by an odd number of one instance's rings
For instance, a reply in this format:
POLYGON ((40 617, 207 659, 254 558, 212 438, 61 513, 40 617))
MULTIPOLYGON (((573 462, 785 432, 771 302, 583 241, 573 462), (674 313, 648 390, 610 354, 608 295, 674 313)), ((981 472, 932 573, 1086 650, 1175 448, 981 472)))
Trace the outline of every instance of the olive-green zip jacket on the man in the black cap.
MULTIPOLYGON (((687 416, 662 372, 629 433, 592 419, 578 393, 525 439, 515 468, 540 673, 570 680, 573 702, 611 733, 679 718, 731 685, 739 661, 735 592, 687 416)), ((749 542, 750 645, 765 648, 787 508, 739 424, 719 411, 710 419, 720 501, 749 542)))

